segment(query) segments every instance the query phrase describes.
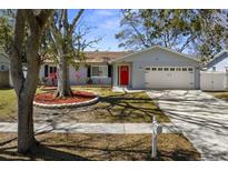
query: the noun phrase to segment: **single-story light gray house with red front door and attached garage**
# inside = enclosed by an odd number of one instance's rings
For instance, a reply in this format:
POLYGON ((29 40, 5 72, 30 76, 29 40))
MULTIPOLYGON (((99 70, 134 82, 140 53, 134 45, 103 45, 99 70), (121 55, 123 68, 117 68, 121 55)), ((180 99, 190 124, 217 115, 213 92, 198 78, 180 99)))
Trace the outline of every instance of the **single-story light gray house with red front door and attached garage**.
MULTIPOLYGON (((77 61, 76 61, 77 62, 77 61)), ((39 79, 57 84, 54 62, 44 60, 39 79), (51 76, 51 77, 50 77, 51 76), (51 79, 50 79, 51 78, 51 79)), ((86 52, 77 70, 70 66, 70 84, 106 84, 130 89, 199 89, 200 62, 194 57, 153 46, 139 52, 86 52)))

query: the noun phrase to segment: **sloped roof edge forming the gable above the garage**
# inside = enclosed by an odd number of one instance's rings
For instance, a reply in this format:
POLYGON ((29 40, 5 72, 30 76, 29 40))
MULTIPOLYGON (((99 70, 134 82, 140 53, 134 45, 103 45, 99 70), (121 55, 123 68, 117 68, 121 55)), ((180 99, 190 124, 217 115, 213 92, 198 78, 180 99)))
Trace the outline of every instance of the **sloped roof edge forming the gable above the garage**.
POLYGON ((145 53, 145 52, 149 52, 149 51, 155 51, 155 50, 162 50, 162 51, 166 51, 166 52, 168 52, 168 53, 178 54, 178 56, 181 57, 181 58, 185 58, 185 59, 187 59, 187 60, 190 60, 190 61, 194 61, 194 62, 199 63, 199 61, 198 61, 197 59, 194 59, 194 58, 192 58, 191 56, 189 56, 189 54, 181 53, 181 52, 176 52, 176 51, 174 51, 174 50, 171 50, 171 49, 162 48, 162 47, 160 47, 160 46, 153 46, 153 47, 148 48, 148 49, 145 49, 145 50, 140 51, 140 52, 135 52, 135 53, 131 53, 131 54, 127 54, 127 56, 125 56, 125 57, 121 57, 121 58, 111 60, 110 63, 111 63, 111 62, 116 62, 116 61, 121 61, 121 60, 123 60, 123 59, 129 59, 129 58, 131 58, 131 57, 136 57, 136 56, 138 56, 138 54, 145 53))

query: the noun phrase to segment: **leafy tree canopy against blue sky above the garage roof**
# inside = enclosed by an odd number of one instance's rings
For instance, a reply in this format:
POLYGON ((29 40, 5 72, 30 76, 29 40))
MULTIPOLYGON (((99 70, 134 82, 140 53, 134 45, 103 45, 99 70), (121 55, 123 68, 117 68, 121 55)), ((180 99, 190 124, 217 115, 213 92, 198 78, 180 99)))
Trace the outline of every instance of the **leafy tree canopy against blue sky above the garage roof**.
POLYGON ((217 23, 221 10, 121 10, 122 30, 116 34, 119 47, 141 50, 155 44, 198 57, 220 51, 228 38, 217 23))

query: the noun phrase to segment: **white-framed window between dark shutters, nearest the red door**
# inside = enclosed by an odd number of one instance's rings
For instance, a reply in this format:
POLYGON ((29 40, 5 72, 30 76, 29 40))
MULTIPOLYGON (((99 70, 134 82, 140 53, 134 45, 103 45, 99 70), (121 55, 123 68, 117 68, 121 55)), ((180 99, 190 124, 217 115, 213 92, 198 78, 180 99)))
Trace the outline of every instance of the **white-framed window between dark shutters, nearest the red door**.
POLYGON ((107 66, 91 66, 91 77, 93 78, 107 78, 108 67, 107 66))

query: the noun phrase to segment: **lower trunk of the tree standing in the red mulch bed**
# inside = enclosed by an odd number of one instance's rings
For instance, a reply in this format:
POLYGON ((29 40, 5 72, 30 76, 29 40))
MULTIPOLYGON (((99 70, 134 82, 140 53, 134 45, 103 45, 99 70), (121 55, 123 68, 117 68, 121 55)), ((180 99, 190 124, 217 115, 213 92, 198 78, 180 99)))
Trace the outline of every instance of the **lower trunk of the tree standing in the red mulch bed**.
POLYGON ((59 58, 57 64, 58 89, 54 94, 56 98, 67 98, 72 95, 69 80, 69 64, 63 57, 59 58))

